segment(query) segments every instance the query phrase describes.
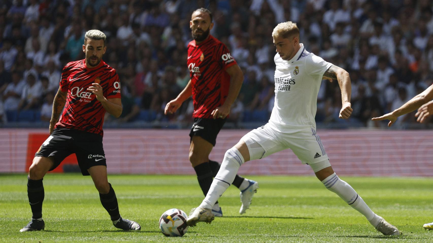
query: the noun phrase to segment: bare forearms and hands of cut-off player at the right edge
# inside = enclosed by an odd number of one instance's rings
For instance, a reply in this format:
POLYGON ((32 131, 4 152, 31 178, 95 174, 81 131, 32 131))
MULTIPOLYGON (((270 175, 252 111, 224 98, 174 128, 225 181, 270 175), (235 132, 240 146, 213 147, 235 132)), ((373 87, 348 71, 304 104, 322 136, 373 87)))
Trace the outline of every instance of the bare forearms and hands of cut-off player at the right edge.
POLYGON ((390 120, 388 126, 391 126, 392 123, 394 123, 395 120, 397 120, 397 117, 400 117, 401 115, 407 114, 409 112, 416 110, 417 108, 420 108, 418 109, 417 114, 415 114, 415 117, 418 117, 417 121, 423 122, 426 119, 426 117, 431 116, 433 114, 433 104, 431 101, 432 99, 433 99, 433 85, 430 85, 430 87, 428 87, 422 93, 416 95, 414 98, 410 99, 410 101, 407 101, 405 104, 395 109, 393 112, 385 114, 381 117, 374 117, 372 118, 372 120, 374 121, 390 120))

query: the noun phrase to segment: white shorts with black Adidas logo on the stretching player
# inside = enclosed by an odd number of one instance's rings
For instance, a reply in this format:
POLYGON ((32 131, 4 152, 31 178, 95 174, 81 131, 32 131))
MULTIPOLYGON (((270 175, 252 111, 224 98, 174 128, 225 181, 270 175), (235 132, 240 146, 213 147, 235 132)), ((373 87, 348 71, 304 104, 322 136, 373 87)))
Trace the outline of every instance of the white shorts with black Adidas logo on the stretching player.
POLYGON ((265 158, 268 155, 290 148, 297 158, 301 160, 302 164, 315 164, 321 161, 328 161, 326 165, 329 164, 325 148, 323 148, 320 137, 313 128, 294 133, 280 133, 272 129, 267 123, 265 126, 247 133, 242 137, 242 141, 248 147, 250 160, 265 158), (255 142, 262 146, 265 150, 264 153, 262 149, 254 148, 255 142))

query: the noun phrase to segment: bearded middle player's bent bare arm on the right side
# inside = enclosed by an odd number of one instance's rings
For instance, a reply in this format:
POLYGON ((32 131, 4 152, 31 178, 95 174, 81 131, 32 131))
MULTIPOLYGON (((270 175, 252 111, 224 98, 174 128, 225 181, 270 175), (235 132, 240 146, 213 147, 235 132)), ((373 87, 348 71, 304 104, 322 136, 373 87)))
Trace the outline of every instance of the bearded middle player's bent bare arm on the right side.
POLYGON ((236 64, 226 69, 226 72, 230 75, 230 88, 229 94, 227 95, 226 101, 222 106, 216 107, 212 111, 213 119, 226 118, 230 113, 230 107, 236 101, 239 95, 239 91, 242 87, 243 73, 240 67, 236 64))

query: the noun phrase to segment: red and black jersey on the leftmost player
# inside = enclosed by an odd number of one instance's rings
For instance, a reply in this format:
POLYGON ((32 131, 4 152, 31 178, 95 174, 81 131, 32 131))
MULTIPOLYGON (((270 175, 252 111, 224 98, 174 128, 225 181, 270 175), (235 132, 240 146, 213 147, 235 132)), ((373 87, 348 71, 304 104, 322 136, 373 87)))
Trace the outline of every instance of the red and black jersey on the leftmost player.
POLYGON ((63 68, 60 88, 67 93, 66 104, 55 127, 103 136, 105 109, 87 88, 99 83, 105 98, 120 98, 120 80, 116 70, 103 60, 94 68, 87 68, 85 62, 85 59, 70 62, 63 68))

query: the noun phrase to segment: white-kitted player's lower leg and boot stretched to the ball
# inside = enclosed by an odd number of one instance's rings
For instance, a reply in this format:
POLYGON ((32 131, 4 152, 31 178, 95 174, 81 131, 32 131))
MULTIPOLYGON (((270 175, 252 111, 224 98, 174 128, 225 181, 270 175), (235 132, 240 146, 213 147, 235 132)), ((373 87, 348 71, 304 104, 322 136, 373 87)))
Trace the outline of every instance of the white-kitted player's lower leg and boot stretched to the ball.
POLYGON ((218 171, 218 174, 216 174, 205 199, 199 207, 191 210, 187 219, 187 224, 189 226, 195 226, 197 222, 210 223, 213 221, 214 215, 211 212, 212 207, 233 182, 239 167, 245 162, 242 153, 247 157, 247 159, 249 159, 248 147, 242 140, 233 148, 226 151, 221 168, 218 171))

